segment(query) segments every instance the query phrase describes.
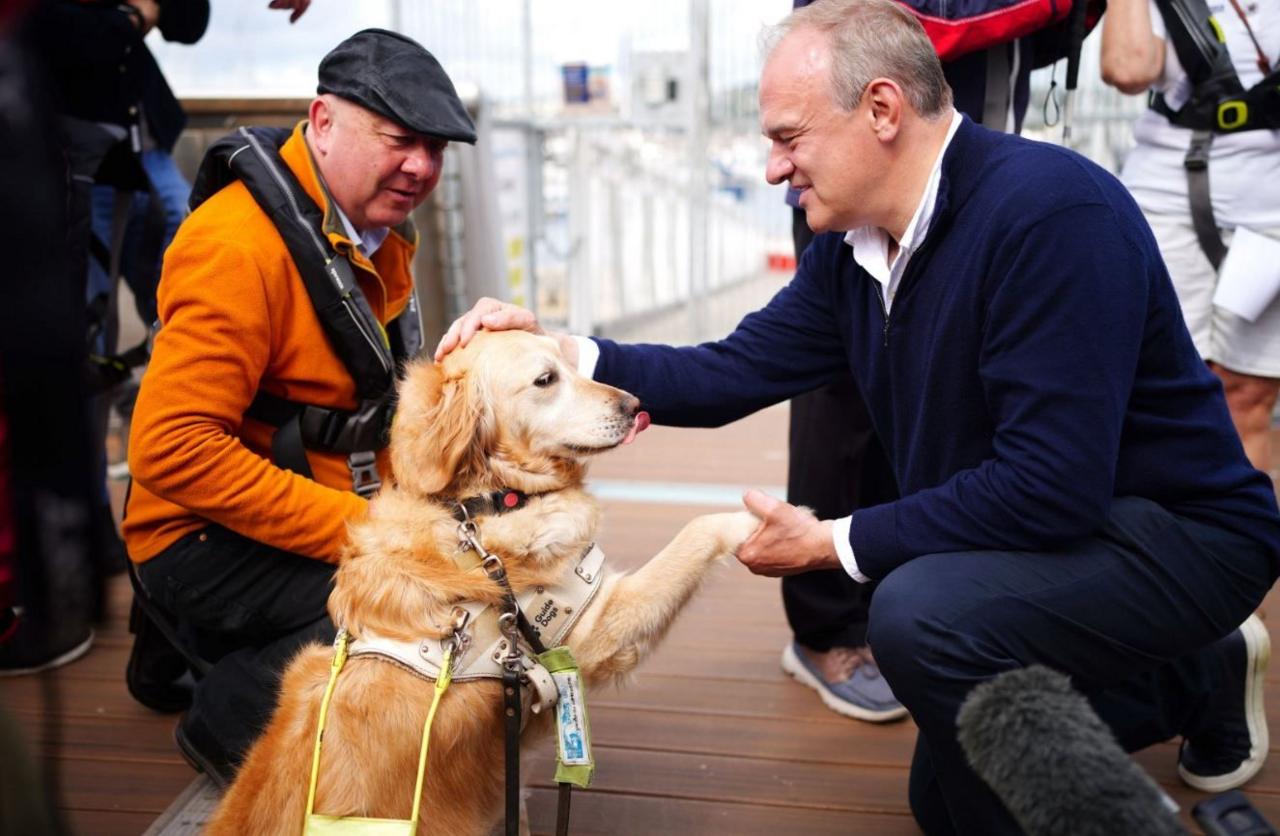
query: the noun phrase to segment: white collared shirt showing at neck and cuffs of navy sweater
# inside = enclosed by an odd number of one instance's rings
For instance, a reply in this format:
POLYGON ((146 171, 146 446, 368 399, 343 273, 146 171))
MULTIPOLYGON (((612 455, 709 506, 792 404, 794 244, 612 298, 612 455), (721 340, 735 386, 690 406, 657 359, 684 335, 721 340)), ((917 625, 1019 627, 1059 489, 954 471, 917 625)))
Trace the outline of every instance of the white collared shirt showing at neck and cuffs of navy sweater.
MULTIPOLYGON (((937 159, 933 160, 929 179, 924 184, 924 193, 920 195, 920 201, 915 206, 911 221, 902 233, 897 255, 892 262, 888 259, 888 233, 879 227, 861 227, 845 234, 845 243, 854 250, 854 261, 881 284, 886 315, 893 305, 893 296, 897 293, 897 287, 902 280, 902 273, 906 270, 906 264, 911 259, 911 253, 920 248, 920 245, 924 243, 924 237, 929 233, 929 221, 933 220, 933 209, 938 202, 938 184, 942 182, 942 157, 946 156, 947 147, 950 147, 951 140, 955 137, 963 117, 960 111, 952 110, 947 137, 942 142, 942 147, 938 149, 937 159)), ((586 337, 576 337, 575 339, 577 341, 579 373, 591 378, 595 375, 595 365, 599 361, 600 350, 594 341, 586 337)), ((870 579, 858 570, 858 561, 854 558, 854 547, 849 544, 851 521, 852 517, 832 520, 831 536, 835 542, 836 556, 840 558, 841 566, 845 567, 845 571, 854 580, 865 584, 870 579)))

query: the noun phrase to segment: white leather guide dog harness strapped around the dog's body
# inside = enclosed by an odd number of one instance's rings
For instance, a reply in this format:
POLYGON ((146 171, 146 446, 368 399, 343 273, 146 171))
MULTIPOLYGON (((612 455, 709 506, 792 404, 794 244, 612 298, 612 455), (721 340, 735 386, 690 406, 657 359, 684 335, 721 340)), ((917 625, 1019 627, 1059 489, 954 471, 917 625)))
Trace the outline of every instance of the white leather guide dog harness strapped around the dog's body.
MULTIPOLYGON (((477 563, 479 566, 479 563, 477 563)), ((604 552, 594 543, 577 563, 566 567, 553 586, 535 586, 516 597, 520 611, 548 648, 562 643, 582 612, 595 599, 604 575, 604 552)), ((507 638, 498 626, 498 607, 462 602, 453 609, 452 625, 436 625, 443 638, 402 641, 374 632, 365 632, 351 641, 348 655, 371 655, 393 662, 425 680, 435 681, 440 673, 447 644, 456 647, 453 680, 502 679, 502 661, 508 655, 507 638)), ((558 698, 556 684, 529 648, 521 647, 525 675, 532 690, 526 703, 534 712, 553 705, 558 698)))

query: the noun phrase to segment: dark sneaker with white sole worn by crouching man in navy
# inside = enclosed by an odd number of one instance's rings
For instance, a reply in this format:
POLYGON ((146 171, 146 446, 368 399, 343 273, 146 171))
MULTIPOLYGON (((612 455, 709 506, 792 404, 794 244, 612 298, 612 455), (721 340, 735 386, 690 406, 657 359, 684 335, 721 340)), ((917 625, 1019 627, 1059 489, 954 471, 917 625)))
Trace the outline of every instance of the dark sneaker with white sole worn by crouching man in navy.
MULTIPOLYGON (((1257 616, 1213 645, 1228 661, 1231 675, 1219 687, 1212 722, 1183 739, 1178 775, 1204 792, 1234 790, 1262 768, 1267 759, 1267 714, 1262 681, 1271 658, 1271 638, 1257 616)), ((1215 693, 1217 696, 1217 693, 1215 693)))

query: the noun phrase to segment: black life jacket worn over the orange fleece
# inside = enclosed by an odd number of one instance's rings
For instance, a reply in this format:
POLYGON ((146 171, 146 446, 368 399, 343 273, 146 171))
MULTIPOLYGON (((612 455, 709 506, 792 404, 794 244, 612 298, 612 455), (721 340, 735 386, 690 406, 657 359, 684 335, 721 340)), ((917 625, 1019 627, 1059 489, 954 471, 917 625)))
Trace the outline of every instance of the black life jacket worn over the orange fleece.
POLYGON ((280 159, 289 128, 238 128, 205 152, 191 192, 191 209, 234 181, 275 224, 311 297, 334 353, 356 384, 360 407, 334 410, 259 392, 247 417, 276 428, 271 460, 311 478, 305 449, 347 453, 352 490, 371 495, 381 481, 375 453, 387 446, 396 411, 399 361, 422 347, 416 297, 384 330, 356 283, 351 260, 323 230, 324 211, 280 159))

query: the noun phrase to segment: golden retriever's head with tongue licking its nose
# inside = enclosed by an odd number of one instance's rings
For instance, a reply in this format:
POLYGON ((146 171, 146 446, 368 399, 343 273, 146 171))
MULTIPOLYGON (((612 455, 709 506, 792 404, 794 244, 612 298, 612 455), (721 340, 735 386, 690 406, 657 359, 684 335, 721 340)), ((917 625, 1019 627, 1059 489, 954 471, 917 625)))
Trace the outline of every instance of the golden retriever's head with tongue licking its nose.
POLYGON ((397 484, 421 495, 553 490, 627 438, 640 402, 589 380, 550 337, 480 332, 440 364, 406 369, 392 425, 397 484))

